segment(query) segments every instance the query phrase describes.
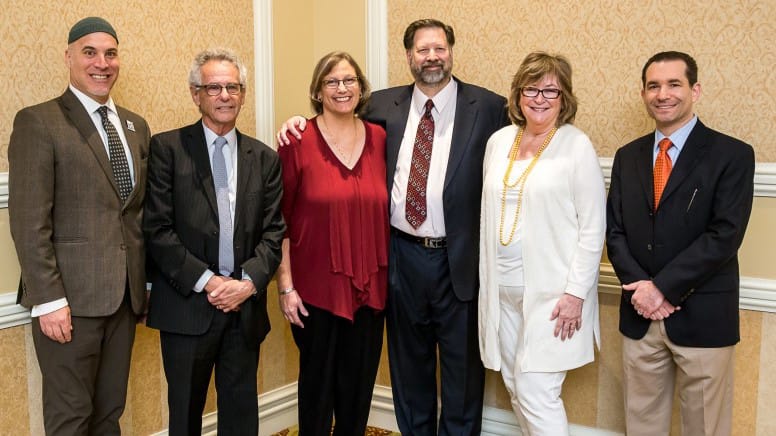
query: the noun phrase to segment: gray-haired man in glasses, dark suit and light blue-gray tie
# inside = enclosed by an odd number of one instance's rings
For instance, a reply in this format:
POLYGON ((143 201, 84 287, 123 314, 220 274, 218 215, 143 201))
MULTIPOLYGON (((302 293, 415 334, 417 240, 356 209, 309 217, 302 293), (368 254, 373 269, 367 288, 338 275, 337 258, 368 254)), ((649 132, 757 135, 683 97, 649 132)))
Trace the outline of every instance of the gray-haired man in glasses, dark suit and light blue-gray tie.
POLYGON ((280 264, 280 160, 238 131, 247 70, 231 51, 199 53, 189 87, 202 119, 151 139, 143 229, 160 330, 170 435, 199 434, 215 367, 218 433, 256 435, 266 287, 280 264))

